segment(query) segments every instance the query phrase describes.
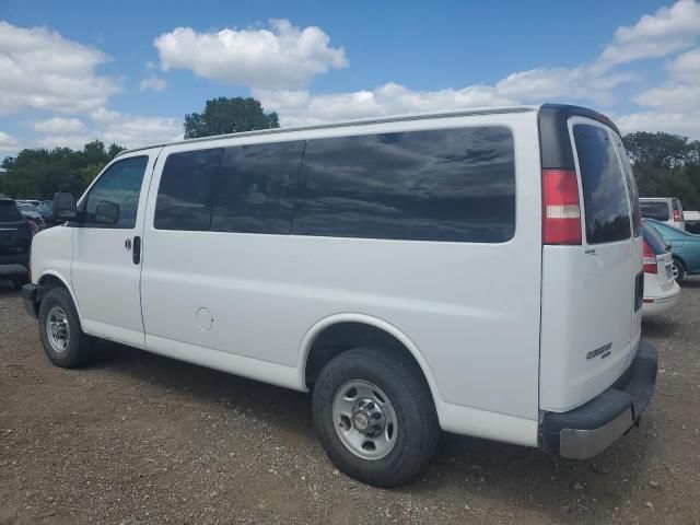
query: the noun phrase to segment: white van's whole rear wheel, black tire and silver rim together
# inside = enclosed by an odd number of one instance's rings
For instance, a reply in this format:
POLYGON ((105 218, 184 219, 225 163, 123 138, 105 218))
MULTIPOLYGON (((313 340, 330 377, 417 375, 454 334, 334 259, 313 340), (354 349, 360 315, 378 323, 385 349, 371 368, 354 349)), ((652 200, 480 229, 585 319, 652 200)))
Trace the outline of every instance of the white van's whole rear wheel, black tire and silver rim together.
POLYGON ((338 469, 377 487, 416 476, 440 438, 420 370, 381 349, 358 348, 332 359, 314 386, 313 409, 320 442, 338 469))

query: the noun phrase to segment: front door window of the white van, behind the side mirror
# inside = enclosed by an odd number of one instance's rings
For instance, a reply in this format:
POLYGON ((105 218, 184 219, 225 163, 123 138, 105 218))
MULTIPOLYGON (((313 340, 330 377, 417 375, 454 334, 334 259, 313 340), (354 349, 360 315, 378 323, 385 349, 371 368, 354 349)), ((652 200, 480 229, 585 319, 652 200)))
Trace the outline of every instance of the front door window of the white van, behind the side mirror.
POLYGON ((112 164, 85 196, 82 207, 84 219, 80 225, 125 230, 135 228, 141 184, 148 163, 149 158, 144 155, 131 156, 112 164), (103 218, 101 213, 95 213, 107 207, 115 210, 116 222, 114 217, 103 218))

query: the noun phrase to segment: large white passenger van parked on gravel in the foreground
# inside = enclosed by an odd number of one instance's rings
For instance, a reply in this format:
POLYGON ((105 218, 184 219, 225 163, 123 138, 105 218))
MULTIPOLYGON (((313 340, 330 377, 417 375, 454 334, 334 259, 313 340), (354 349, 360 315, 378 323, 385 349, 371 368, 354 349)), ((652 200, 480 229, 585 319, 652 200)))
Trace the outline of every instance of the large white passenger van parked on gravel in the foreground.
POLYGON ((369 483, 416 475, 440 429, 592 457, 652 396, 637 188, 590 109, 144 148, 54 207, 22 291, 51 362, 97 337, 312 390, 324 448, 369 483))

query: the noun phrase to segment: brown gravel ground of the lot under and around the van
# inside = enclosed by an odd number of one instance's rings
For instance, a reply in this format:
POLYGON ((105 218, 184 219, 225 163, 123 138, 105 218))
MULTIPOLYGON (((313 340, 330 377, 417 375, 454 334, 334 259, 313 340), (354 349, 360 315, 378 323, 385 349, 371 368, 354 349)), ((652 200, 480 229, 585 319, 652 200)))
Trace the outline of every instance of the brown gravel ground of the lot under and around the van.
POLYGON ((0 283, 0 524, 700 523, 700 280, 644 324, 656 394, 587 462, 443 435, 412 483, 380 490, 326 459, 310 397, 100 343, 54 368, 0 283))

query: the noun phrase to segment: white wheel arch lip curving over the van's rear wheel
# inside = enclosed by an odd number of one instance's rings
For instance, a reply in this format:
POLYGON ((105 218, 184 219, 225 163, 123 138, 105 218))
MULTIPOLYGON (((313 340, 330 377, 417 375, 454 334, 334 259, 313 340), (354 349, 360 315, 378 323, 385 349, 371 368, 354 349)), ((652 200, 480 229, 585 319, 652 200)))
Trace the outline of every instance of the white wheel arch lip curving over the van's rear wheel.
MULTIPOLYGON (((435 382, 435 377, 428 364, 428 361, 418 349, 417 345, 399 328, 387 323, 384 319, 373 317, 371 315, 365 314, 355 314, 355 313, 339 313, 334 314, 328 317, 324 317, 316 322, 304 335, 302 342, 300 345, 299 351, 299 384, 302 389, 308 389, 310 377, 308 377, 308 366, 310 366, 310 358, 313 357, 312 352, 314 350, 314 343, 319 341, 319 338, 324 336, 324 334, 328 334, 329 330, 334 328, 343 326, 343 325, 355 325, 358 327, 364 326, 369 330, 378 330, 378 332, 384 334, 386 337, 392 338, 394 341, 400 345, 402 349, 405 349, 412 358, 418 369, 422 373, 425 383, 428 384, 428 388, 430 389, 431 397, 433 399, 433 404, 435 406, 435 410, 438 412, 438 417, 440 419, 440 406, 441 406, 441 397, 440 390, 438 389, 438 384, 435 382)), ((349 349, 349 348, 348 348, 349 349)), ((329 355, 325 362, 328 362, 335 355, 342 353, 342 351, 334 352, 329 355)), ((324 364, 325 364, 324 362, 324 364)), ((318 370, 319 371, 319 370, 318 370)), ((313 377, 311 377, 313 378, 313 377)), ((313 381, 312 381, 313 383, 313 381)))

